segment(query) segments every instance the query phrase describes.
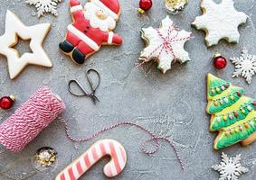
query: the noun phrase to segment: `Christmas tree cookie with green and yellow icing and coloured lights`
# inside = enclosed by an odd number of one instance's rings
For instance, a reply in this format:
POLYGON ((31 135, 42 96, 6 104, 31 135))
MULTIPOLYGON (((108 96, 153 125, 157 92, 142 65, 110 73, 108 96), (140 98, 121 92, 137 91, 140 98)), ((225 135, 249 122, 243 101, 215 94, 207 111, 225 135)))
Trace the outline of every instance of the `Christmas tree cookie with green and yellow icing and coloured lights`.
POLYGON ((207 76, 206 112, 211 114, 210 130, 218 130, 214 148, 227 148, 256 140, 256 100, 243 95, 243 89, 216 76, 207 76))

